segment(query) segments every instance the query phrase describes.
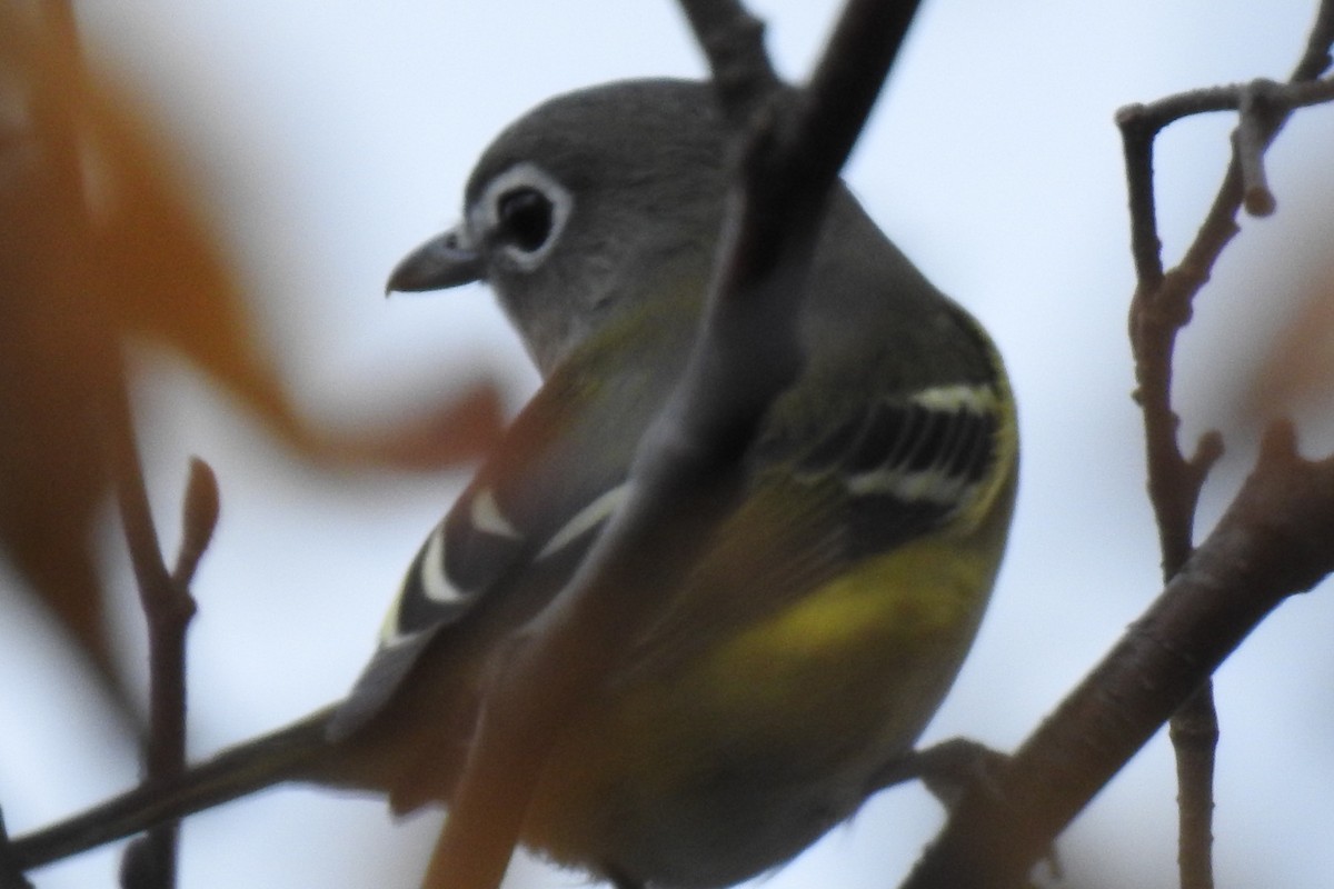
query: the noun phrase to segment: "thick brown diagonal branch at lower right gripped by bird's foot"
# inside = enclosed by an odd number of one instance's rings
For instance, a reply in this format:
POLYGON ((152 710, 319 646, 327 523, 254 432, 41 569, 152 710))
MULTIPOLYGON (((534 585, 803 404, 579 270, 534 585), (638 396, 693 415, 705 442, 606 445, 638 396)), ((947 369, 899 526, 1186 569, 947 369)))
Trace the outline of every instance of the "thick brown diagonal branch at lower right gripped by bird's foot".
POLYGON ((906 889, 1015 886, 1158 726, 1286 596, 1334 570, 1334 458, 1274 427, 1227 513, 1011 766, 970 788, 906 889))

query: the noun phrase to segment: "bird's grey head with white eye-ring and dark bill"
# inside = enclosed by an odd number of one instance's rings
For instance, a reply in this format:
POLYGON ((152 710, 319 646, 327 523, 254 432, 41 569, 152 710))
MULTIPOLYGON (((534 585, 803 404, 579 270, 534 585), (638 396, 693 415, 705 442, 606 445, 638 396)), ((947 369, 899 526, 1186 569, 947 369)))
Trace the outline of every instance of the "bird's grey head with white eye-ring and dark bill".
POLYGON ((463 221, 391 291, 491 284, 543 375, 654 285, 707 275, 727 140, 707 84, 634 80, 552 99, 502 132, 463 221))

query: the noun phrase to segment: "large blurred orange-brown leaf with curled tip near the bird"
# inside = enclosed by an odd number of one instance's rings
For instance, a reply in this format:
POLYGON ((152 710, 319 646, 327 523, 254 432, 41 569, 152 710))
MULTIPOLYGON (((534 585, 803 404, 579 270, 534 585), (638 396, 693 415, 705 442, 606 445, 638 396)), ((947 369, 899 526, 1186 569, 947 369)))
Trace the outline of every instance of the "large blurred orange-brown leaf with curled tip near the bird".
POLYGON ((0 0, 0 546, 108 680, 92 532, 125 336, 177 349, 323 464, 438 468, 502 423, 483 381, 411 429, 354 441, 305 424, 197 192, 131 97, 84 68, 68 5, 0 0))

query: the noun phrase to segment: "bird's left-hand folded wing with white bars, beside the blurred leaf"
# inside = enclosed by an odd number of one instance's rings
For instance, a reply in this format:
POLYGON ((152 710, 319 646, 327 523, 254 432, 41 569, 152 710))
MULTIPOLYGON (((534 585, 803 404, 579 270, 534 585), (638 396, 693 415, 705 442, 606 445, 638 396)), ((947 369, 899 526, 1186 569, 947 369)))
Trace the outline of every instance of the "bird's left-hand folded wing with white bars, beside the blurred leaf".
POLYGON ((496 621, 474 618, 496 610, 484 602, 506 598, 532 613, 563 586, 618 506, 639 439, 686 355, 662 331, 650 347, 659 351, 656 361, 651 349, 608 337, 598 352, 558 369, 516 417, 412 561, 380 648, 334 718, 331 737, 346 737, 379 713, 434 646, 500 632, 496 621))

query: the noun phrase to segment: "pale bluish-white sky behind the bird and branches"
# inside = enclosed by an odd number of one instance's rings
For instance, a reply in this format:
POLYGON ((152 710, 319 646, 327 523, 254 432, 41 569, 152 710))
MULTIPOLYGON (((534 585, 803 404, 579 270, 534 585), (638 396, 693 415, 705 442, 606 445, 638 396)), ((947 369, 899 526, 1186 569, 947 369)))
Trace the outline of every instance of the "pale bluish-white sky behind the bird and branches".
MULTIPOLYGON (((1025 436, 1009 561, 928 740, 963 733, 1013 746, 1157 592, 1129 399, 1133 280, 1111 116, 1127 101, 1285 75, 1314 5, 927 3, 848 179, 900 247, 992 331, 1025 436)), ((752 7, 770 20, 780 67, 799 75, 835 4, 752 7)), ((614 77, 702 72, 667 0, 116 0, 79 12, 95 56, 179 133, 275 360, 325 423, 402 415, 479 365, 511 379, 519 404, 535 377, 487 295, 384 301, 388 269, 454 220, 472 159, 535 101, 614 77)), ((1169 256, 1217 185, 1230 123, 1181 124, 1162 144, 1169 256)), ((1279 215, 1243 223, 1203 296, 1179 376, 1189 435, 1227 423, 1227 393, 1245 385, 1285 300, 1322 259, 1334 221, 1331 137, 1331 109, 1290 127, 1273 156, 1279 215)), ((197 377, 156 373, 143 411, 165 540, 175 540, 189 453, 213 462, 223 485, 191 648, 192 744, 203 756, 346 690, 462 476, 329 478, 197 377)), ((1323 446, 1306 439, 1310 453, 1334 444, 1330 416, 1306 419, 1307 432, 1326 433, 1323 446)), ((1254 449, 1251 432, 1225 432, 1234 456, 1209 489, 1206 528, 1254 449)), ((3 601, 0 674, 32 680, 0 700, 0 722, 23 726, 0 733, 0 804, 21 833, 121 789, 135 760, 128 742, 88 744, 104 709, 68 690, 69 665, 12 598, 3 601)), ((135 620, 131 610, 127 658, 141 645, 135 620)), ((1334 873, 1331 625, 1330 590, 1293 601, 1219 674, 1223 885, 1314 888, 1334 873)), ((1174 796, 1170 753, 1155 738, 1062 841, 1067 864, 1078 874, 1079 862, 1105 857, 1109 884, 1171 885, 1174 796)), ((919 789, 883 794, 764 885, 891 885, 938 821, 919 789)), ((181 886, 412 886, 436 825, 428 816, 394 826, 375 801, 275 792, 189 822, 181 886)), ((36 877, 40 889, 111 886, 113 872, 104 853, 36 877)), ((582 882, 535 862, 511 880, 582 882)))

